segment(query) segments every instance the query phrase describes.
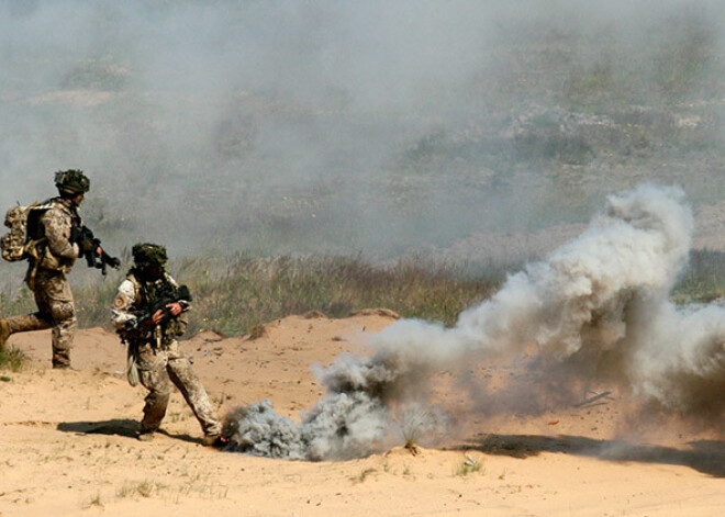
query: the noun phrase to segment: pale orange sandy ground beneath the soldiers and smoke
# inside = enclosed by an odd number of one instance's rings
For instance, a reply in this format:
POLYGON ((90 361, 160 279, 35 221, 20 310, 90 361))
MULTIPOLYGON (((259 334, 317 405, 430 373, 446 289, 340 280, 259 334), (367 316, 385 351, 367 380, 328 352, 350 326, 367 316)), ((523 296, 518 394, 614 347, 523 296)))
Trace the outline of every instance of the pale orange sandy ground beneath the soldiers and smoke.
MULTIPOLYGON (((292 316, 256 340, 208 333, 182 347, 220 413, 268 397, 299 420, 322 394, 310 366, 360 352, 366 333, 392 322, 292 316)), ((725 508, 725 442, 679 429, 622 446, 616 393, 547 415, 467 422, 462 439, 415 454, 397 447, 350 461, 283 461, 202 447, 178 392, 164 434, 136 440, 145 391, 126 383, 124 348, 103 329, 79 331, 76 371, 49 369, 47 331, 12 336, 10 345, 33 361, 0 372, 3 517, 701 517, 725 508), (467 461, 476 467, 466 473, 467 461)), ((457 394, 435 382, 455 405, 457 394)))

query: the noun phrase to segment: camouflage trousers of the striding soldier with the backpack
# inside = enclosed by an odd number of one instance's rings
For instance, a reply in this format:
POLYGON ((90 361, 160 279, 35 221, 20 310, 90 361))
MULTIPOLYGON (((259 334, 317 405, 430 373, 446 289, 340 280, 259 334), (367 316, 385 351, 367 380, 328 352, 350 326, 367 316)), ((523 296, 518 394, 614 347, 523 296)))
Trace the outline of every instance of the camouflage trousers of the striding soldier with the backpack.
POLYGON ((53 328, 53 367, 70 367, 76 335, 76 306, 66 276, 41 269, 33 285, 37 312, 8 318, 10 334, 53 328))

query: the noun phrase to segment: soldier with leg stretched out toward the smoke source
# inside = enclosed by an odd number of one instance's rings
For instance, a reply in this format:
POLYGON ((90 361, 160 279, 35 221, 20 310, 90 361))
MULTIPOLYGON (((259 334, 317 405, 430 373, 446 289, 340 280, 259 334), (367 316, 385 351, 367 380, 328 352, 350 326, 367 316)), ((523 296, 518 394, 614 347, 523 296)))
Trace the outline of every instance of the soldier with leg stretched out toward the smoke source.
POLYGON ((201 424, 203 443, 219 447, 221 423, 177 341, 187 328, 186 310, 178 302, 166 304, 165 310, 152 308, 159 300, 164 301, 163 293, 178 288, 165 271, 166 249, 155 244, 137 244, 132 254, 134 266, 119 286, 111 313, 113 326, 129 346, 129 381, 135 385, 140 380, 148 390, 138 439, 153 439, 161 425, 172 382, 201 424), (144 317, 145 321, 140 321, 144 317))

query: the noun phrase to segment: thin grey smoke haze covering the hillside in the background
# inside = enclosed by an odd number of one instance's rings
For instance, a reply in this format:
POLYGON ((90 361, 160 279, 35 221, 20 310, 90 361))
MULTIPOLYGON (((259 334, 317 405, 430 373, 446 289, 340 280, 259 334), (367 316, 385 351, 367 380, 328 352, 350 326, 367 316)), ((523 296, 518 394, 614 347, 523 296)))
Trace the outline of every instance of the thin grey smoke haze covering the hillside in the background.
POLYGON ((633 177, 711 201, 722 25, 714 1, 11 0, 0 203, 77 167, 112 244, 391 256, 583 222, 633 177))

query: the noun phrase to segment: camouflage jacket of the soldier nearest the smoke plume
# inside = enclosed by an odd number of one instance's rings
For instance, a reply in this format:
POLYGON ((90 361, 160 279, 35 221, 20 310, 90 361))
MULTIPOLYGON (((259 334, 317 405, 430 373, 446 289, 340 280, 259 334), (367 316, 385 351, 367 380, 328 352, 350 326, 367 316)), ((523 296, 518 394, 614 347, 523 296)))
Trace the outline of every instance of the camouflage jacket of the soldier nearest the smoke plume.
POLYGON ((121 282, 113 299, 111 323, 115 331, 123 339, 131 342, 152 342, 159 347, 168 347, 176 341, 177 337, 182 336, 187 331, 188 321, 186 313, 181 313, 176 317, 165 318, 160 324, 155 326, 143 327, 136 330, 126 330, 125 328, 127 321, 136 318, 136 316, 146 312, 156 302, 156 294, 167 282, 174 288, 178 288, 176 280, 166 272, 164 277, 156 281, 144 282, 131 270, 126 279, 121 282))

